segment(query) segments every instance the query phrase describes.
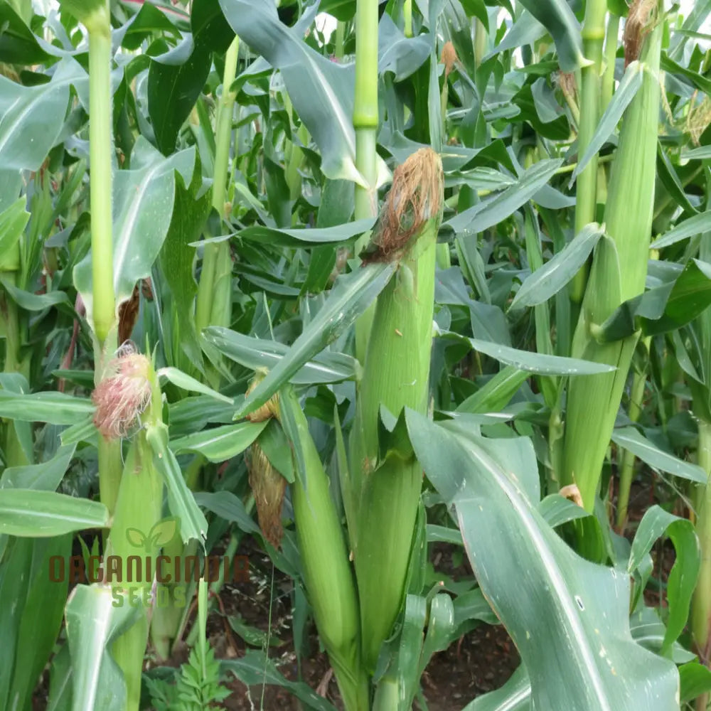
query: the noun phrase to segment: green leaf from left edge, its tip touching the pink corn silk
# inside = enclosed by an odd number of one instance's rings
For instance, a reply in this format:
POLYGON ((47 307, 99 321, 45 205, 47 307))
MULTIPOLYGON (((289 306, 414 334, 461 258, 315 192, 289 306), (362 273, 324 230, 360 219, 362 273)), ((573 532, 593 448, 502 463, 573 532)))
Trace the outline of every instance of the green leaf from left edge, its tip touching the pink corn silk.
POLYGON ((91 400, 65 395, 63 392, 32 392, 18 394, 0 390, 0 417, 21 422, 76 424, 93 414, 91 400))

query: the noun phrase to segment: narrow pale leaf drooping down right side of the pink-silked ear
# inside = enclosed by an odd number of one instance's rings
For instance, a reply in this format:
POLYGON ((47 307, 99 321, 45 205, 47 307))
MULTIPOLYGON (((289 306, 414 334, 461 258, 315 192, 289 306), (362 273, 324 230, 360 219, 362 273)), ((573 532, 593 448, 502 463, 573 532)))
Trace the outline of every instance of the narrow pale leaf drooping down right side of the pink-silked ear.
POLYGON ((149 426, 146 429, 146 441, 153 450, 153 464, 166 483, 170 512, 180 520, 183 543, 195 539, 204 546, 208 522, 198 508, 193 492, 185 483, 175 454, 168 447, 168 428, 165 425, 149 426))

